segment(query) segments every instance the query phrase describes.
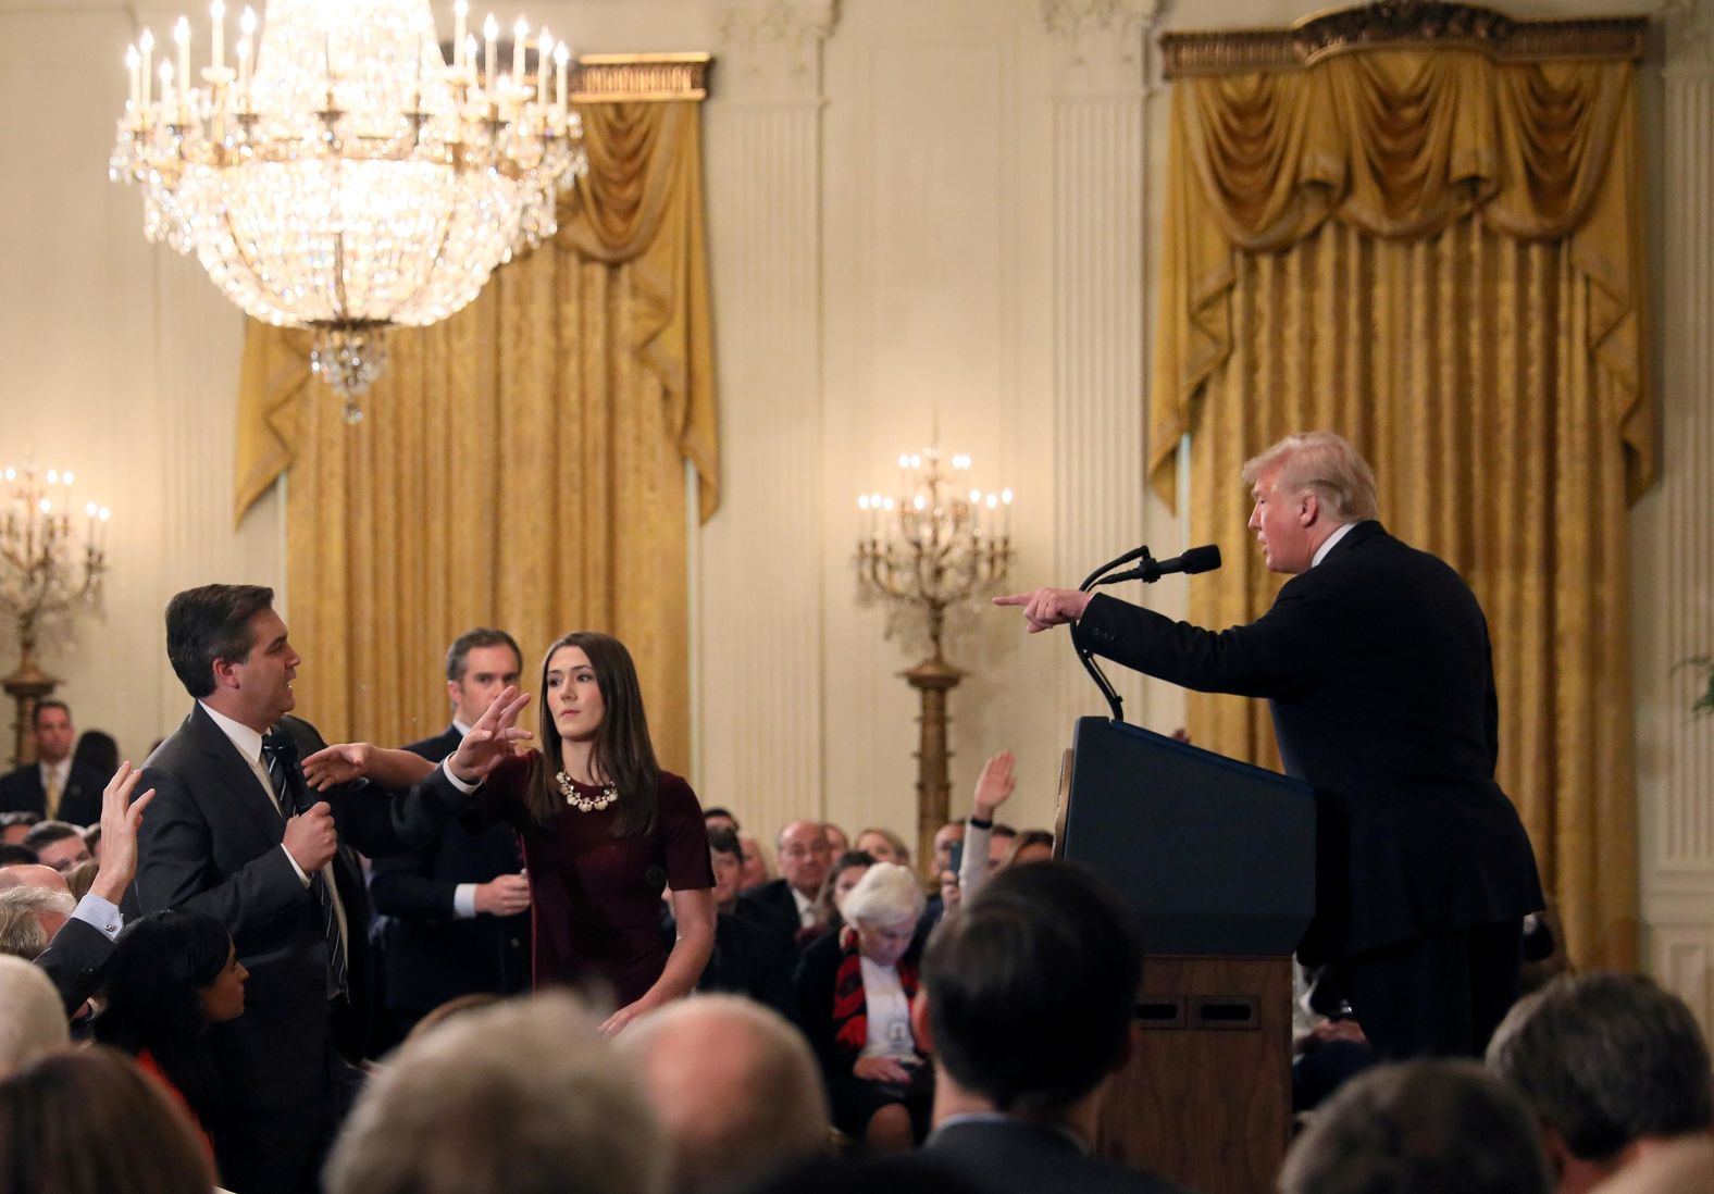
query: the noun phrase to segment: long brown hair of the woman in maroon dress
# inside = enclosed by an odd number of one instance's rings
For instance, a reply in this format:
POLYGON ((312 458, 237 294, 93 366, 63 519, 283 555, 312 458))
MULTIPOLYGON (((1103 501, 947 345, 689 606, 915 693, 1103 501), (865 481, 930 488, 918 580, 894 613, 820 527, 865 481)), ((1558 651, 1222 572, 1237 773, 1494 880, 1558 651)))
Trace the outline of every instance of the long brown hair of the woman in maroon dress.
POLYGON ((530 776, 530 815, 540 826, 557 826, 566 797, 554 774, 560 769, 560 738, 554 725, 554 709, 547 699, 547 665, 560 648, 578 648, 595 670, 595 685, 602 690, 607 713, 595 731, 595 749, 590 752, 590 769, 605 776, 619 788, 614 838, 634 838, 655 827, 660 807, 660 764, 655 761, 655 743, 648 737, 648 716, 643 713, 643 685, 626 644, 610 634, 572 630, 542 656, 542 707, 538 735, 542 759, 530 776))

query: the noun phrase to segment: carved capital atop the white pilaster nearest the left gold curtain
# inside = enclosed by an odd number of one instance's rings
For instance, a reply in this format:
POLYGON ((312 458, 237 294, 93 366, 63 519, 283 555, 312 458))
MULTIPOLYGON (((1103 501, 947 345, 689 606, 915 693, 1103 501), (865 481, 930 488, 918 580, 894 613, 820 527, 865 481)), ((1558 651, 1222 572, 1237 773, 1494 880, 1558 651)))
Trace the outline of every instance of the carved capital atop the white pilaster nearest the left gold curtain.
POLYGON ((838 22, 838 0, 720 3, 715 12, 722 91, 749 103, 819 103, 821 45, 838 22))

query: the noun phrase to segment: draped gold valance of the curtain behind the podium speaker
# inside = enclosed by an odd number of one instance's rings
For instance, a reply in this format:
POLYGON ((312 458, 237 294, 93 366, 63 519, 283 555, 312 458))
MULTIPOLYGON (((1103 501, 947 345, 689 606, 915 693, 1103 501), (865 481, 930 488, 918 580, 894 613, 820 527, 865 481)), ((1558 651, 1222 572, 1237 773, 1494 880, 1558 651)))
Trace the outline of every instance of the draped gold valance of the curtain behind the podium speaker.
POLYGON ((1234 252, 1284 250, 1328 219, 1423 240, 1476 214, 1507 236, 1568 238, 1591 284, 1589 351, 1616 382, 1606 416, 1635 498, 1654 475, 1654 449, 1632 75, 1628 62, 1388 48, 1303 70, 1179 79, 1150 394, 1155 492, 1174 500, 1179 437, 1232 351, 1234 252))

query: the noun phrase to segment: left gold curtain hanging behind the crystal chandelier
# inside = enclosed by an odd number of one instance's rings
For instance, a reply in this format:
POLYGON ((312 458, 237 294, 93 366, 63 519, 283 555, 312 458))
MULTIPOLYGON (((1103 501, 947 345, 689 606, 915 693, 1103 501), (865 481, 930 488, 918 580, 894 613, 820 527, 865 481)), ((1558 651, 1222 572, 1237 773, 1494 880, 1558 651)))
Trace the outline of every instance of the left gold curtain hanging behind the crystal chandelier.
POLYGON ((518 637, 531 690, 554 637, 600 629, 636 658, 662 764, 689 766, 684 463, 701 517, 720 493, 699 111, 581 111, 590 175, 554 242, 394 332, 360 427, 307 332, 249 327, 238 517, 290 471, 298 704, 329 738, 442 728, 440 658, 471 625, 518 637))

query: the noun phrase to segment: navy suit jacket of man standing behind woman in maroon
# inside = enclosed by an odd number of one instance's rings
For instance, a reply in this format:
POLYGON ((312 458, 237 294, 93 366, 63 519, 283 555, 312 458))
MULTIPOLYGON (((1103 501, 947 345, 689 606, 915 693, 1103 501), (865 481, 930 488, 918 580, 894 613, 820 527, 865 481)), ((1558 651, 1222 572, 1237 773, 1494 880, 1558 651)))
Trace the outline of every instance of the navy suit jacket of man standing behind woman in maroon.
MULTIPOLYGON (((405 747, 430 762, 458 750, 458 730, 405 747)), ((447 822, 434 845, 375 860, 369 896, 387 916, 382 966, 389 1007, 425 1012, 458 995, 511 995, 530 985, 530 913, 516 916, 452 915, 452 894, 464 882, 518 874, 523 855, 511 826, 470 833, 447 822)))

